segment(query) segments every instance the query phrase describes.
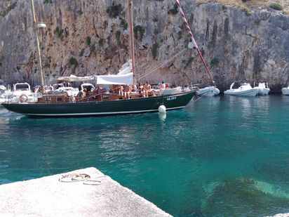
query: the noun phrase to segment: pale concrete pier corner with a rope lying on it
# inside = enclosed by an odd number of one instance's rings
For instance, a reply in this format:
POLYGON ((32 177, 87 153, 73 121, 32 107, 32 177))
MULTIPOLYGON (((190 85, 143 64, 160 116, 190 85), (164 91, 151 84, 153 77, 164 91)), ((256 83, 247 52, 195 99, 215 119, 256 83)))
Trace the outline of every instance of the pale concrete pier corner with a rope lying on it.
POLYGON ((0 185, 0 213, 0 216, 170 216, 95 168, 0 185), (81 179, 78 176, 81 173, 90 178, 82 175, 88 179, 81 179))

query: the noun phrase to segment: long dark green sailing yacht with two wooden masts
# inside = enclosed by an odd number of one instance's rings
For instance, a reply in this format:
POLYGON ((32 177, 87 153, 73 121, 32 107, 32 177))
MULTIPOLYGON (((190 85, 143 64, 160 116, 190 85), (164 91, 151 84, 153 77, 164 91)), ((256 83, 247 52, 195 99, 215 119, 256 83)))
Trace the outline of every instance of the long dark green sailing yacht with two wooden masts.
MULTIPOLYGON (((36 25, 34 6, 32 0, 32 13, 34 16, 34 25, 36 25)), ((100 75, 93 79, 97 80, 97 84, 106 85, 130 85, 135 86, 135 55, 133 41, 133 1, 128 0, 128 27, 130 39, 130 58, 128 73, 119 73, 114 75, 100 75)), ((38 36, 36 41, 39 48, 38 36)), ((39 51, 39 62, 41 63, 41 54, 39 51)), ((41 83, 43 82, 42 67, 41 83)), ((126 69, 127 71, 127 69, 126 69)), ((83 117, 109 114, 132 114, 141 112, 157 112, 159 107, 166 107, 166 110, 177 110, 185 107, 195 96, 196 91, 180 90, 170 94, 149 94, 147 97, 141 93, 134 92, 129 98, 124 98, 122 94, 101 91, 100 93, 90 93, 84 98, 79 96, 69 96, 64 94, 47 94, 43 93, 35 103, 19 100, 18 103, 3 103, 7 110, 25 114, 29 117, 83 117)), ((23 97, 23 96, 22 96, 23 97)))

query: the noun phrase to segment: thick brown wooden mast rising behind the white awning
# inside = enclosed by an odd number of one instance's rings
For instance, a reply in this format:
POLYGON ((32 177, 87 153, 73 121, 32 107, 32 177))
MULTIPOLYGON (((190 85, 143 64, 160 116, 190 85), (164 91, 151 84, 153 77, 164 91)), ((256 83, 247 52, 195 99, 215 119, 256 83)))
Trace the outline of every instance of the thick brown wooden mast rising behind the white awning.
POLYGON ((133 84, 135 84, 135 44, 133 41, 133 0, 128 0, 128 29, 130 39, 130 58, 132 61, 133 84))

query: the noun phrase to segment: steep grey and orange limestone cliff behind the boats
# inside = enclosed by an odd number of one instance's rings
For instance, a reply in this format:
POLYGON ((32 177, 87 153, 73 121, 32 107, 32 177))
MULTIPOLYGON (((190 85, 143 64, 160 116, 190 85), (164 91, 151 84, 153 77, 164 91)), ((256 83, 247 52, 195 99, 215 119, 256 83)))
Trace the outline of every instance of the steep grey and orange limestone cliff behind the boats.
MULTIPOLYGON (((129 58, 127 0, 34 0, 46 83, 62 75, 116 74, 129 58)), ((133 1, 138 81, 206 84, 205 67, 174 0, 133 1), (173 58, 175 56, 175 58, 173 58), (156 67, 157 70, 156 70, 156 67), (145 77, 145 75, 147 77, 145 77)), ((289 74, 289 17, 272 9, 181 1, 217 86, 268 81, 280 91, 289 74)), ((0 79, 39 84, 30 1, 0 3, 0 79)))

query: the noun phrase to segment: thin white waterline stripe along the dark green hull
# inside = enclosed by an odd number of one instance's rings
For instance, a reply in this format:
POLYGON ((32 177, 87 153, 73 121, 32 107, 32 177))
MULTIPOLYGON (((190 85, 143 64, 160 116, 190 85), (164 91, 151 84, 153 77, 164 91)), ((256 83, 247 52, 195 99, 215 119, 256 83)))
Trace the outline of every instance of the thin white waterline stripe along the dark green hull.
MULTIPOLYGON (((184 106, 180 107, 170 107, 166 110, 177 110, 181 109, 184 106)), ((64 114, 29 114, 25 113, 25 115, 29 116, 87 116, 87 115, 103 115, 103 114, 133 114, 133 113, 143 113, 143 112, 156 112, 158 110, 138 110, 138 111, 128 111, 128 112, 90 112, 90 113, 64 113, 64 114)))

